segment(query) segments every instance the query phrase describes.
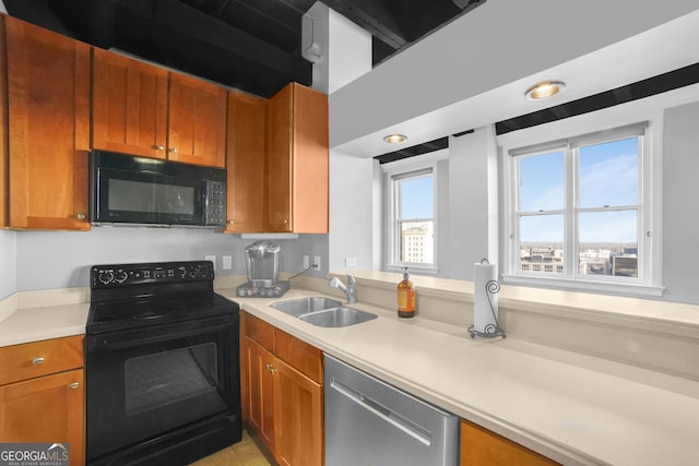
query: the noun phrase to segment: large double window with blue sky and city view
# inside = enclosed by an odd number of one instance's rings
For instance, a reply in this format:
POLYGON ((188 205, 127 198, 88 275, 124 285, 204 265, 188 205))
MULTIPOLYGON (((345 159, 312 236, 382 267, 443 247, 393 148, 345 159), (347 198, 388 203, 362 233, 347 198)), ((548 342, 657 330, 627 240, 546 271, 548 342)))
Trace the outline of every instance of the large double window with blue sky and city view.
POLYGON ((507 151, 510 282, 656 285, 647 131, 636 123, 507 151))

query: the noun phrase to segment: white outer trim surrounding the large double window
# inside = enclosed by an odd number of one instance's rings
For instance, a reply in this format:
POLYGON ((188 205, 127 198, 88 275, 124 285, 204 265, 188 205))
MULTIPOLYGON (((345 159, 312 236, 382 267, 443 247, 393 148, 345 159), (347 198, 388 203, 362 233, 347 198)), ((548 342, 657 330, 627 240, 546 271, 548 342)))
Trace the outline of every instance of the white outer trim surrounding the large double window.
MULTIPOLYGON (((672 107, 680 93, 666 93, 648 99, 635 100, 608 109, 567 118, 552 123, 541 124, 525 130, 513 131, 498 136, 502 168, 502 282, 511 285, 545 286, 558 289, 572 289, 623 294, 639 297, 662 296, 662 180, 663 180, 663 109, 672 107), (608 283, 605 280, 568 279, 554 276, 528 276, 517 272, 517 251, 512 243, 514 235, 516 187, 512 186, 516 162, 510 151, 518 147, 546 144, 556 140, 573 139, 579 135, 601 133, 616 128, 648 121, 643 138, 645 154, 642 160, 639 190, 644 190, 650 208, 644 211, 639 222, 640 234, 651 232, 643 242, 643 280, 636 283, 608 283)), ((680 97, 682 98, 682 97, 680 97)))

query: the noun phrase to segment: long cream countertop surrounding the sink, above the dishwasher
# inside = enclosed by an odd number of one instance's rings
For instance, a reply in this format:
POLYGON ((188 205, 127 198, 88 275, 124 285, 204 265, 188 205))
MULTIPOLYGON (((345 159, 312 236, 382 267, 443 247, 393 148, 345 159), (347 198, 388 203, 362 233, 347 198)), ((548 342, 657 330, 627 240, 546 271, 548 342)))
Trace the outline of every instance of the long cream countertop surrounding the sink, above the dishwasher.
MULTIPOLYGON (((451 413, 564 464, 699 464, 699 383, 366 304, 378 319, 317 327, 269 304, 246 311, 451 413)), ((283 300, 319 295, 293 289, 283 300)))

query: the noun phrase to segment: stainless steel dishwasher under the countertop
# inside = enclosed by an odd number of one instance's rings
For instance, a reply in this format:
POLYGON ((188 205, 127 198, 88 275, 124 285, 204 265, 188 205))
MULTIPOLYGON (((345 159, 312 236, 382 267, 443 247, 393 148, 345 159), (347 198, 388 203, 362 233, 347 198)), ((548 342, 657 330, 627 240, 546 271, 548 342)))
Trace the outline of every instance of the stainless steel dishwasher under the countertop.
POLYGON ((458 466, 459 418, 324 356, 327 466, 458 466))

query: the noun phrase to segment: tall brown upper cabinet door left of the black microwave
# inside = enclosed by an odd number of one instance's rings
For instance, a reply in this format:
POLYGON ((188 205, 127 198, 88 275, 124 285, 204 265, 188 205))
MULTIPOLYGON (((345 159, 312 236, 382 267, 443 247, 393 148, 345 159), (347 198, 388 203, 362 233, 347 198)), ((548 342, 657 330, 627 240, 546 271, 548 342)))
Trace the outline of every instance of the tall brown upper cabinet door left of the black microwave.
POLYGON ((88 229, 90 46, 5 26, 10 227, 88 229))

